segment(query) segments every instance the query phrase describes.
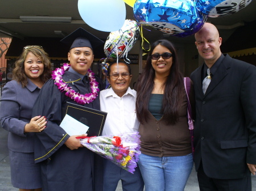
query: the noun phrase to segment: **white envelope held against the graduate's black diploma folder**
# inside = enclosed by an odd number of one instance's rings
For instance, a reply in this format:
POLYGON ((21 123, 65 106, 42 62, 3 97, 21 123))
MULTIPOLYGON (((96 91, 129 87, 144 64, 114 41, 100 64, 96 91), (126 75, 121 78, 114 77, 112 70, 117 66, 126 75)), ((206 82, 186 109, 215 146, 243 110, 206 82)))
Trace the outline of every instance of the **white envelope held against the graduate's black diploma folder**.
POLYGON ((70 136, 85 134, 89 129, 87 125, 82 124, 80 121, 77 121, 68 114, 66 114, 61 121, 60 127, 70 136))

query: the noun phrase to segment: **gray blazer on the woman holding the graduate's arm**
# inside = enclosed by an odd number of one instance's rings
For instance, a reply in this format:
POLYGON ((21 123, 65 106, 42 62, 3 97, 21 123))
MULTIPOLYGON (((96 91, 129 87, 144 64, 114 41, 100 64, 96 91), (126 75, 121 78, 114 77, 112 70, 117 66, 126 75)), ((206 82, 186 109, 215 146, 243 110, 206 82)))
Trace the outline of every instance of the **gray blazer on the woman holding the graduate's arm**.
POLYGON ((9 131, 8 147, 11 151, 34 152, 35 133, 24 133, 24 126, 32 118, 32 108, 39 91, 30 79, 24 88, 16 80, 3 87, 0 122, 2 128, 9 131))

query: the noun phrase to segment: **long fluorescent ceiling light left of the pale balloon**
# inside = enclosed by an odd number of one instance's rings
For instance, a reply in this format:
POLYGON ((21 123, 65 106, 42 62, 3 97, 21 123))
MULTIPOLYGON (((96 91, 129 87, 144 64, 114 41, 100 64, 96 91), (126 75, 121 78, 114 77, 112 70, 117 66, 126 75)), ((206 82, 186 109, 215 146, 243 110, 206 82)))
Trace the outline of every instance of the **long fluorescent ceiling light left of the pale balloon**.
POLYGON ((71 17, 58 16, 19 16, 22 22, 31 23, 71 23, 71 17))

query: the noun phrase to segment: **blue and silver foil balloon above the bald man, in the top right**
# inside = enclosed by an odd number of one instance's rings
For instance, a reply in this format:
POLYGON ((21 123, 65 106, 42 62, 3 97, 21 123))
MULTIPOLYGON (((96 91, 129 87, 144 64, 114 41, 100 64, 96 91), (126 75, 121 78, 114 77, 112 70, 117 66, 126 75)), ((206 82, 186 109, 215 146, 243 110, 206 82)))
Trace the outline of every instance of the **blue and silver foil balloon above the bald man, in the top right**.
POLYGON ((245 8, 251 0, 197 0, 196 7, 209 17, 228 16, 245 8))

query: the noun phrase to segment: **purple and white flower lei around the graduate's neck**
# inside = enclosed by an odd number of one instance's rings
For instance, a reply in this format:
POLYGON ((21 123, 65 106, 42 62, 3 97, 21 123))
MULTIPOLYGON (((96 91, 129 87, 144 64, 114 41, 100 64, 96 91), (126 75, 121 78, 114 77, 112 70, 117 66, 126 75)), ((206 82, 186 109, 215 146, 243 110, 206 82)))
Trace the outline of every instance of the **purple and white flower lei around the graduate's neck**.
POLYGON ((52 79, 55 80, 55 85, 59 88, 61 92, 65 91, 65 95, 71 97, 71 99, 75 100, 77 103, 91 103, 93 100, 96 99, 96 97, 98 96, 98 91, 100 91, 98 89, 98 82, 94 78, 94 73, 92 72, 92 70, 88 69, 88 78, 90 81, 90 90, 92 90, 92 93, 81 95, 75 92, 72 87, 69 87, 68 84, 65 83, 62 79, 62 75, 65 73, 66 70, 69 69, 69 67, 69 63, 64 63, 63 66, 52 71, 52 79))

